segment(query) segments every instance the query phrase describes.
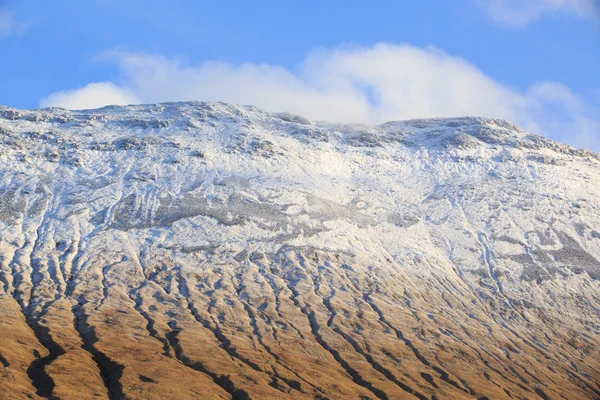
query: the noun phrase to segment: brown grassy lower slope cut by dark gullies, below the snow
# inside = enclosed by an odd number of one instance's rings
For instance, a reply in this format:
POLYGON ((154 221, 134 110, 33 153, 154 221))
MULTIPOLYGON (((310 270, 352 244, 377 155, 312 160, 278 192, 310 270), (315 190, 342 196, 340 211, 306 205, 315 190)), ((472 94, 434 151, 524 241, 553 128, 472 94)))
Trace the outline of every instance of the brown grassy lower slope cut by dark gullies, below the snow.
POLYGON ((133 288, 96 272, 38 307, 34 323, 0 297, 0 398, 600 396, 589 321, 482 301, 458 279, 417 279, 327 252, 181 262, 151 277, 140 271, 133 288), (40 326, 53 345, 36 339, 40 326), (64 353, 42 368, 53 386, 40 387, 27 370, 55 345, 64 353))

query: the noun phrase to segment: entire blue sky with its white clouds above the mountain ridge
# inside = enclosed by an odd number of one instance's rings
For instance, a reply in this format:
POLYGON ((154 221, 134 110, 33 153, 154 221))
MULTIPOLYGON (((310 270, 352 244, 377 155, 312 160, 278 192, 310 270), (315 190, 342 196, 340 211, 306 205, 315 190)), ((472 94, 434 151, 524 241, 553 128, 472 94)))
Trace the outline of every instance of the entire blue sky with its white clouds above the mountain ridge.
POLYGON ((0 0, 0 104, 507 119, 600 151, 599 0, 0 0))

